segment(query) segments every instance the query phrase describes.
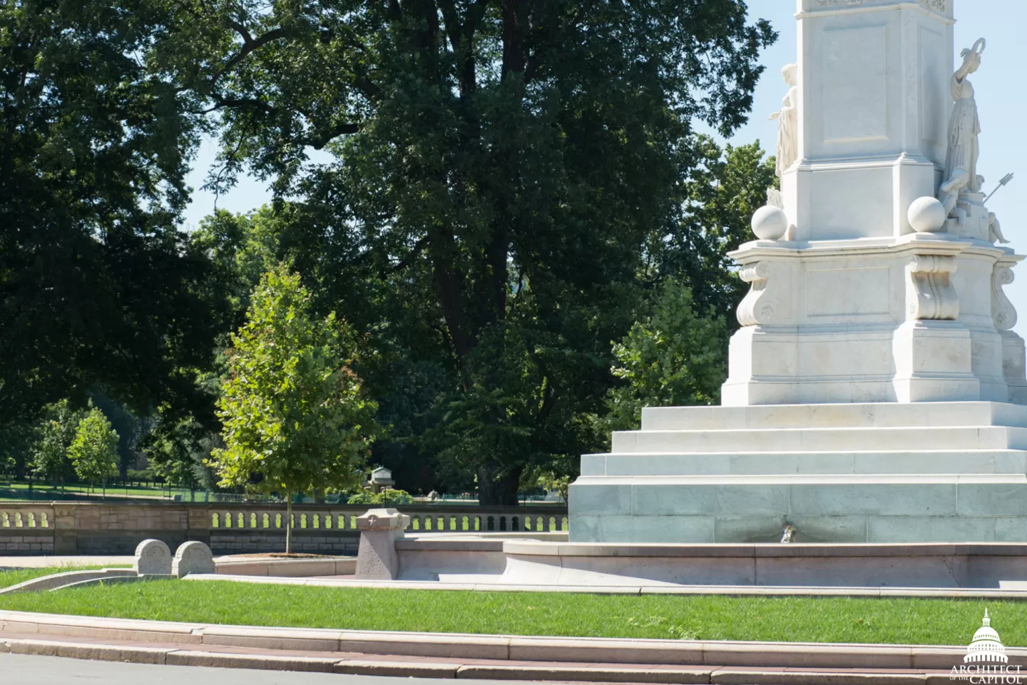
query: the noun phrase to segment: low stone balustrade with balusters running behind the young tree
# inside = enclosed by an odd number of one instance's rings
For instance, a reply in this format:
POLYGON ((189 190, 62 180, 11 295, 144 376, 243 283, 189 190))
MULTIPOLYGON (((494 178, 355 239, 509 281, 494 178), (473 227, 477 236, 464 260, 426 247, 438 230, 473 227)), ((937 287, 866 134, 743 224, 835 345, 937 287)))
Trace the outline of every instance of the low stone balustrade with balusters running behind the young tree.
MULTIPOLYGON (((367 505, 297 504, 295 551, 355 554, 356 518, 367 505)), ((397 506, 408 533, 533 533, 567 530, 567 507, 397 506)), ((0 556, 130 555, 155 538, 172 549, 188 540, 215 554, 280 551, 284 505, 179 502, 0 502, 0 556)))

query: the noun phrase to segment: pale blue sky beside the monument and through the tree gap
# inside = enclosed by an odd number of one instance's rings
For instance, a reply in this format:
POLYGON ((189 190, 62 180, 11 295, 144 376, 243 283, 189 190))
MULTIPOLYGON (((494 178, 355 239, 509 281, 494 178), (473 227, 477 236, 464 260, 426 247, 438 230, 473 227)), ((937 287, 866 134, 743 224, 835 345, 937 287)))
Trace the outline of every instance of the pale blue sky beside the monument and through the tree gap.
MULTIPOLYGON (((988 39, 981 70, 974 76, 974 88, 981 111, 981 161, 980 173, 987 179, 988 192, 1002 176, 1014 172, 1017 178, 989 201, 988 207, 998 215, 1005 237, 1018 252, 1027 252, 1027 232, 1017 216, 1019 201, 1027 197, 1027 168, 1022 160, 1027 153, 1027 40, 1023 27, 1027 26, 1025 0, 954 0, 956 24, 956 52, 968 47, 981 37, 988 39)), ((777 43, 765 50, 761 62, 766 72, 756 88, 753 115, 730 140, 734 144, 759 140, 764 148, 776 139, 776 123, 769 121, 771 112, 781 107, 785 86, 781 68, 795 62, 796 23, 795 0, 749 0, 750 14, 769 20, 781 34, 777 43)), ((214 160, 213 143, 204 142, 193 164, 189 184, 193 188, 203 185, 207 168, 214 160)), ((249 212, 270 199, 264 184, 253 179, 240 179, 232 192, 218 198, 219 207, 231 212, 249 212)), ((215 206, 215 197, 196 190, 186 212, 186 223, 197 225, 215 206)), ((1005 292, 1020 311, 1016 331, 1027 337, 1027 264, 1017 269, 1017 281, 1005 292)))

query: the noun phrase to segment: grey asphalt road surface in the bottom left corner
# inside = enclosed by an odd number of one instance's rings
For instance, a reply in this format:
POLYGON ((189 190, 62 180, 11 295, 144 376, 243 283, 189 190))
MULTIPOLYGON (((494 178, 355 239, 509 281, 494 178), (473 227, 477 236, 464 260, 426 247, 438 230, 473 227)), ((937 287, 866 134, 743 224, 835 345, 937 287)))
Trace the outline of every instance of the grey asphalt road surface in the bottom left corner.
MULTIPOLYGON (((0 685, 453 685, 452 680, 341 676, 330 673, 204 669, 192 665, 155 665, 89 661, 60 656, 0 654, 0 685)), ((465 680, 467 685, 492 681, 465 680)), ((495 685, 517 685, 512 681, 495 685)))

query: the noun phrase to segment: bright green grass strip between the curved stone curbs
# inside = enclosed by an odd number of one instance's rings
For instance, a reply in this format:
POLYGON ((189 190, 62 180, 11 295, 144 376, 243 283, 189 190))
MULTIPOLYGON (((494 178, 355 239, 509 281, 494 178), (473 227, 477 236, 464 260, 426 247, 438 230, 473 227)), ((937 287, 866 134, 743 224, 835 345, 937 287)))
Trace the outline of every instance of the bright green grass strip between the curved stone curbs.
POLYGON ((1027 602, 604 596, 304 587, 230 581, 0 596, 0 609, 200 623, 608 638, 965 645, 985 607, 1027 645, 1027 602))

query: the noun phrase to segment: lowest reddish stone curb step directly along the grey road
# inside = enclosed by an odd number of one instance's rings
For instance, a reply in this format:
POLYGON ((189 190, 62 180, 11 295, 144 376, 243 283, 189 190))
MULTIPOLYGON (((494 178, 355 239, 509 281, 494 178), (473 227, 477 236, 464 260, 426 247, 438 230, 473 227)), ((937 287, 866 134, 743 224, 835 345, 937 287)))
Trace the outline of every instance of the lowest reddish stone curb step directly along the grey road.
POLYGON ((461 664, 410 661, 368 661, 334 657, 230 654, 174 647, 124 647, 43 640, 0 639, 0 653, 62 656, 102 661, 198 665, 219 669, 297 671, 400 678, 472 678, 535 682, 652 683, 653 685, 942 685, 948 674, 889 674, 830 671, 732 671, 717 667, 668 669, 640 664, 636 669, 605 665, 461 664))

